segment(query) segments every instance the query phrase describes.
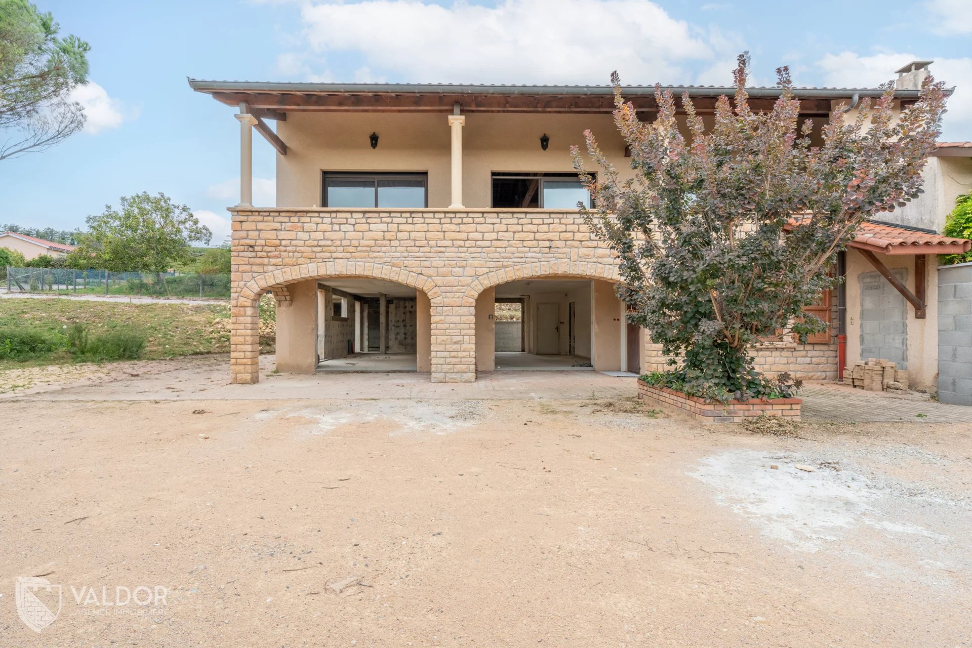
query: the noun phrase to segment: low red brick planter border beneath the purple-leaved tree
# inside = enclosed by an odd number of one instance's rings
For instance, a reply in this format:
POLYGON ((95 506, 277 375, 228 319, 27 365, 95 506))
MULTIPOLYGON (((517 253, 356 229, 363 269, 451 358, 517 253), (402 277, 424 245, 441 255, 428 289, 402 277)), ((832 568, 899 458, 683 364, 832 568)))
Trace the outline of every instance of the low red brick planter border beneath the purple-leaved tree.
POLYGON ((682 392, 663 387, 652 387, 638 381, 638 397, 660 407, 674 407, 702 423, 742 423, 744 420, 765 414, 784 416, 795 423, 800 421, 800 405, 803 398, 774 398, 730 400, 727 403, 707 401, 705 398, 686 396, 682 392))

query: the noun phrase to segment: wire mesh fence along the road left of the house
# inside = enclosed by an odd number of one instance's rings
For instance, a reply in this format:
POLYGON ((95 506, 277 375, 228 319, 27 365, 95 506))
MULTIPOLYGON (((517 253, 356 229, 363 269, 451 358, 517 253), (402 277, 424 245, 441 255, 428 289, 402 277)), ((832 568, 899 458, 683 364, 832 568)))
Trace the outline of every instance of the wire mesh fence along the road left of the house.
POLYGON ((229 275, 6 268, 9 292, 229 298, 229 275))

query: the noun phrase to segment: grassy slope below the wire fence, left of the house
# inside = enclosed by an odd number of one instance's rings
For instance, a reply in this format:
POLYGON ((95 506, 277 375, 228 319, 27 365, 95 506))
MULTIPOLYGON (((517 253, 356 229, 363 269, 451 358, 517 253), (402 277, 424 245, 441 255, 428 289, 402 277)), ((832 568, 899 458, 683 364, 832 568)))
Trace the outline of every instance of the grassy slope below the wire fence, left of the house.
MULTIPOLYGON (((223 304, 115 304, 75 299, 0 299, 0 331, 17 331, 17 337, 57 340, 56 351, 24 353, 20 359, 0 356, 0 370, 74 361, 67 348, 72 324, 85 324, 91 340, 112 342, 97 357, 123 358, 143 337, 143 359, 177 358, 194 354, 226 353, 228 335, 213 333, 213 321, 229 317, 223 304), (123 351, 112 351, 122 349, 123 351)), ((0 341, 2 343, 2 341, 0 341)), ((119 359, 121 359, 119 358, 119 359)))

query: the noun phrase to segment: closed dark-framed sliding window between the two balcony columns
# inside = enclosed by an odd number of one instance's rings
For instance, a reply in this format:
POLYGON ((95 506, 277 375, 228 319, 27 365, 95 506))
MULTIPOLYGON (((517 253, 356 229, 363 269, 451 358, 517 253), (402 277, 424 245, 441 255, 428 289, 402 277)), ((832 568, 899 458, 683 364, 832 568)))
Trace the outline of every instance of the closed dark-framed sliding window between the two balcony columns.
POLYGON ((325 173, 324 207, 349 209, 427 207, 429 177, 425 173, 325 173))

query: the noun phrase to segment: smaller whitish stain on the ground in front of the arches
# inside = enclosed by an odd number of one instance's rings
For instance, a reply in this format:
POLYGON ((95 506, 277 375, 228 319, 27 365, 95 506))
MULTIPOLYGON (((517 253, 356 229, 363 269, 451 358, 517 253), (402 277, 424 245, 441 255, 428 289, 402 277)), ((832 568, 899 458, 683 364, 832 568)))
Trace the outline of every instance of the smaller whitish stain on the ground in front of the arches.
POLYGON ((450 402, 413 400, 349 400, 336 407, 300 407, 262 410, 254 420, 308 419, 307 433, 327 434, 342 426, 378 422, 391 423, 389 436, 406 434, 450 434, 475 425, 482 417, 478 401, 450 402))

